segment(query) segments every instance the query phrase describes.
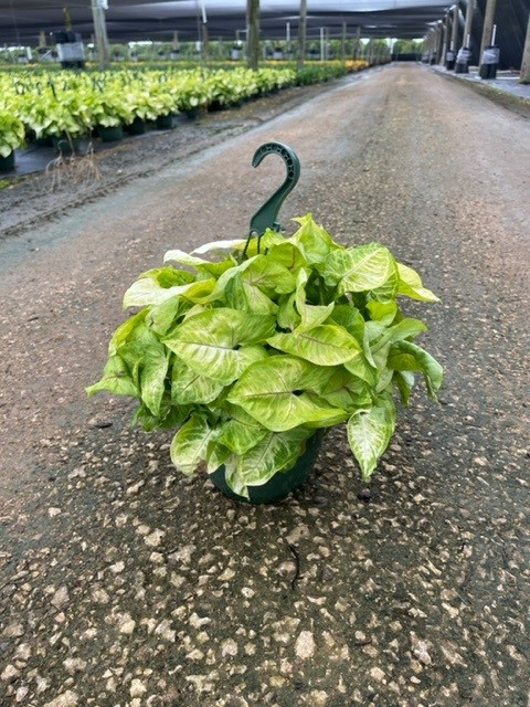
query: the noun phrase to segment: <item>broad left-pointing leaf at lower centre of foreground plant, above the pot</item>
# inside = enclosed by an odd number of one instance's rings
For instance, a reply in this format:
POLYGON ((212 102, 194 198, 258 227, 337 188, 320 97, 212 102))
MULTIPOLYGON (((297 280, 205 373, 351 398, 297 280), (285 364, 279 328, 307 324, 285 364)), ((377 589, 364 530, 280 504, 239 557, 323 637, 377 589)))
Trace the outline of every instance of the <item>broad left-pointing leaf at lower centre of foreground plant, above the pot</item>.
POLYGON ((273 432, 311 423, 336 424, 344 411, 309 395, 326 383, 331 369, 322 369, 290 356, 273 356, 250 366, 235 383, 227 401, 273 432))

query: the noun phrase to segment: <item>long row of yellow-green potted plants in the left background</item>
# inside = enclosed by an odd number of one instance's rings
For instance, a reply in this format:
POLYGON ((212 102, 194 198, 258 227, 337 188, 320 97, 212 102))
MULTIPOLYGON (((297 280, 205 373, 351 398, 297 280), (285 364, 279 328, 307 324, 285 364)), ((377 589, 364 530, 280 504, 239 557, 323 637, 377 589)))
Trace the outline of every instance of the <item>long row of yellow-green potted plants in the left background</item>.
MULTIPOLYGON (((97 134, 118 139, 124 127, 144 131, 146 122, 172 127, 179 113, 241 105, 294 84, 354 71, 335 62, 296 72, 293 66, 193 70, 119 70, 105 73, 31 72, 0 74, 0 158, 9 160, 26 140, 97 134)), ((0 163, 0 168, 2 165, 0 163)))

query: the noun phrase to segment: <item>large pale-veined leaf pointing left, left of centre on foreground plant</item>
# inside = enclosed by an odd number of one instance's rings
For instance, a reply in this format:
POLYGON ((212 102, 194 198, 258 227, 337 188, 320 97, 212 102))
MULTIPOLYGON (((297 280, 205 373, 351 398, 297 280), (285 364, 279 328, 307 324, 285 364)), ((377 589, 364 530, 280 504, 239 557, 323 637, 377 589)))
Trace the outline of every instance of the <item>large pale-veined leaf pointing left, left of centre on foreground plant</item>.
POLYGON ((248 366, 241 347, 273 331, 274 317, 223 307, 187 318, 163 342, 198 373, 227 386, 248 366))

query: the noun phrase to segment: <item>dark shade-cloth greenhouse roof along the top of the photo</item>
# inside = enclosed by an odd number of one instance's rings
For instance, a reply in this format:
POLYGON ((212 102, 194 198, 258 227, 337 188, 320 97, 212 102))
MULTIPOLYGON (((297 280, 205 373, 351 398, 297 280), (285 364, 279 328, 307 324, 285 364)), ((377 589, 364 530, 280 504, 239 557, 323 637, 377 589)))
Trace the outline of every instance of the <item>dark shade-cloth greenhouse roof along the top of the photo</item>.
MULTIPOLYGON (((64 30, 67 6, 73 30, 89 40, 93 34, 91 0, 0 0, 0 44, 35 45, 41 31, 64 30)), ((243 36, 246 0, 108 0, 109 41, 169 41, 179 32, 181 41, 199 39, 202 8, 212 40, 243 36)), ((285 36, 287 24, 294 36, 299 0, 261 0, 264 39, 285 36)), ((362 25, 364 38, 415 39, 439 20, 447 0, 307 0, 307 34, 317 38, 321 28, 339 36, 362 25)))

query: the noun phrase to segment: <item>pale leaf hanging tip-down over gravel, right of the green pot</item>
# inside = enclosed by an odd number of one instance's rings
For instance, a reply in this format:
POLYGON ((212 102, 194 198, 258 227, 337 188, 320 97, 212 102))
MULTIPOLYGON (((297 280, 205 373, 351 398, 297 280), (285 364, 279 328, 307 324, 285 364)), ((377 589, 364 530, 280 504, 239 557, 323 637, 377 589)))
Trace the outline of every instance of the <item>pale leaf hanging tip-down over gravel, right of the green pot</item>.
POLYGON ((361 468, 371 476, 386 450, 395 426, 395 407, 390 397, 379 398, 371 408, 358 410, 348 420, 348 442, 361 468))

